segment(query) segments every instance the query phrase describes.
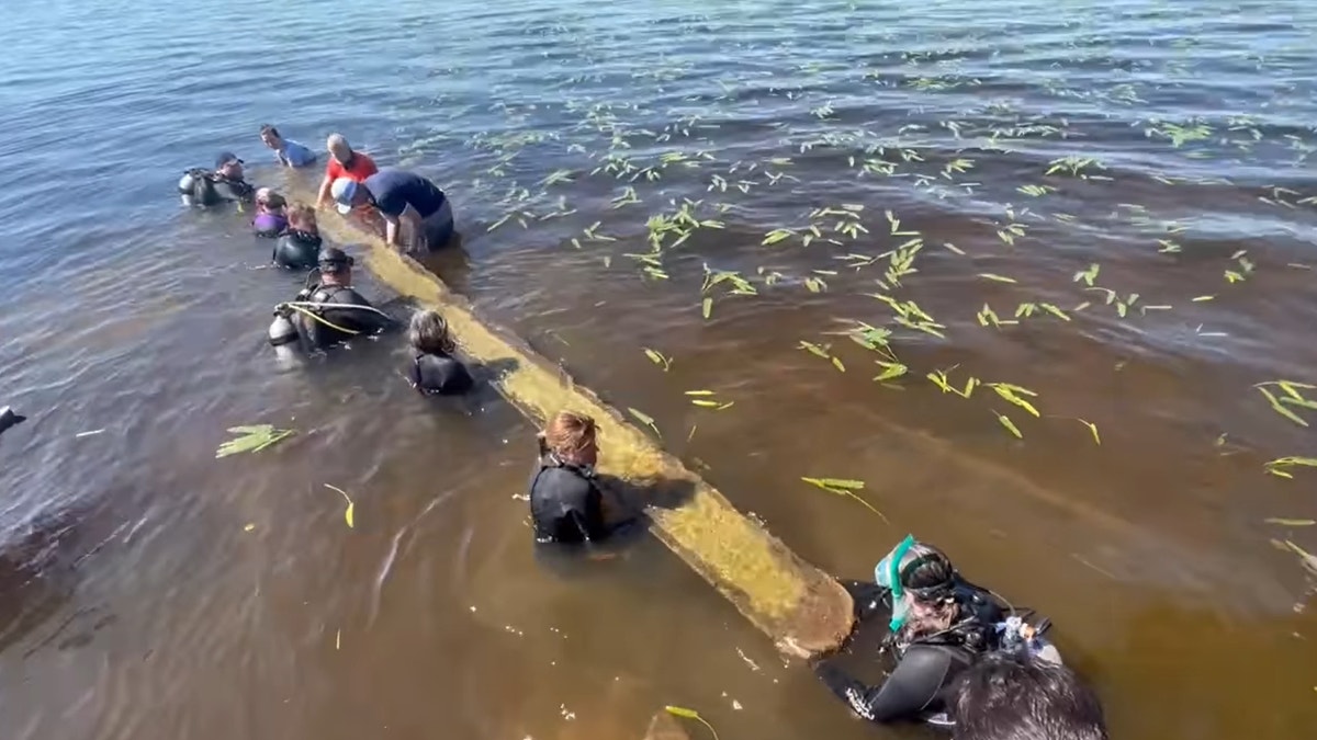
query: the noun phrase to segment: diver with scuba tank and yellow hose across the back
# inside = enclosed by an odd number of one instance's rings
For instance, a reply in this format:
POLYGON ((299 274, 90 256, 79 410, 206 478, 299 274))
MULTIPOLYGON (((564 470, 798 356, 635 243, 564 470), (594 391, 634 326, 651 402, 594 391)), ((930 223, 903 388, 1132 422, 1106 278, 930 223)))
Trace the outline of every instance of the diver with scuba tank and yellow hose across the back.
POLYGON ((392 321, 389 315, 352 287, 353 265, 341 249, 323 249, 317 269, 307 275, 308 284, 296 300, 275 307, 270 344, 282 349, 302 340, 308 350, 317 350, 387 328, 392 321), (320 282, 312 283, 316 278, 320 282))

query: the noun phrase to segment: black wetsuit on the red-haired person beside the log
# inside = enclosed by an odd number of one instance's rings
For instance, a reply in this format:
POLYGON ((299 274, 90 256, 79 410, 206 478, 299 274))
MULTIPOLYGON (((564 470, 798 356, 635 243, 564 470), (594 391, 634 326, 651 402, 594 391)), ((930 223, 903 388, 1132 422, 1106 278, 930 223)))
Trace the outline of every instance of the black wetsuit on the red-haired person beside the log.
POLYGON ((594 469, 544 453, 531 477, 531 516, 540 542, 587 542, 608 536, 594 469))

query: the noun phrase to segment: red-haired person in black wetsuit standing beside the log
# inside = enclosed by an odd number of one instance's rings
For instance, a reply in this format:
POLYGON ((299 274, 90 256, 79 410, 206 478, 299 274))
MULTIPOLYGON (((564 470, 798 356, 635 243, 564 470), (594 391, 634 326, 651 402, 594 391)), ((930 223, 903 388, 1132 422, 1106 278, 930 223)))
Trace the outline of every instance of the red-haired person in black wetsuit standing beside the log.
POLYGON ((539 435, 531 477, 531 517, 539 542, 583 544, 608 536, 603 494, 594 474, 599 456, 594 419, 560 412, 539 435))

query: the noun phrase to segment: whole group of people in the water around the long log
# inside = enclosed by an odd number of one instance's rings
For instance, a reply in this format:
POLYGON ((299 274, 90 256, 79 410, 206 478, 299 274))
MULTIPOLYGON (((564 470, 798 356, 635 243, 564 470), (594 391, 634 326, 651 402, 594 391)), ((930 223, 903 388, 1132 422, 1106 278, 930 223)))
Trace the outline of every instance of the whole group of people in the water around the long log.
MULTIPOLYGON (((308 167, 316 154, 261 128, 262 142, 281 166, 308 167)), ((378 167, 333 134, 317 203, 287 203, 244 179, 242 159, 224 151, 213 170, 188 170, 179 182, 186 204, 250 203, 253 230, 274 238, 271 261, 308 270, 304 288, 275 309, 269 340, 275 348, 300 344, 325 350, 358 336, 377 334, 396 321, 353 287, 354 259, 321 242, 316 207, 333 201, 344 215, 375 212, 390 245, 436 249, 453 237, 453 211, 431 180, 378 167)), ((444 317, 417 311, 407 332, 412 348, 404 375, 421 392, 464 394, 471 373, 456 357, 444 317)), ((537 542, 595 550, 624 521, 595 474, 598 428, 590 416, 564 411, 537 436, 539 454, 529 482, 537 542)), ((992 591, 963 578, 939 549, 906 537, 874 568, 873 581, 847 581, 856 628, 843 649, 810 660, 822 682, 859 716, 877 722, 922 722, 955 728, 959 740, 1105 740, 1096 695, 1063 665, 1047 641, 1046 619, 1019 614, 992 591), (868 643, 868 644, 867 644, 868 643), (843 668, 860 656, 885 666, 885 678, 865 682, 843 668)), ((792 652, 793 645, 784 649, 792 652)))

